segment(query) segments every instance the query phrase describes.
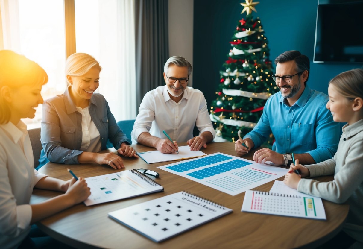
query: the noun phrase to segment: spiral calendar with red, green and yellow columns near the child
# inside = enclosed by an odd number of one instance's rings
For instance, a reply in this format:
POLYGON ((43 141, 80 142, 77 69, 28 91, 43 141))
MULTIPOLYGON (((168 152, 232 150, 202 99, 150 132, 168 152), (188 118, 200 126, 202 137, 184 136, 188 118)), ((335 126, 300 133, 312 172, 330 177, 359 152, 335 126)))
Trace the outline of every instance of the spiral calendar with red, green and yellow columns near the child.
POLYGON ((321 198, 248 190, 242 212, 326 220, 321 198))

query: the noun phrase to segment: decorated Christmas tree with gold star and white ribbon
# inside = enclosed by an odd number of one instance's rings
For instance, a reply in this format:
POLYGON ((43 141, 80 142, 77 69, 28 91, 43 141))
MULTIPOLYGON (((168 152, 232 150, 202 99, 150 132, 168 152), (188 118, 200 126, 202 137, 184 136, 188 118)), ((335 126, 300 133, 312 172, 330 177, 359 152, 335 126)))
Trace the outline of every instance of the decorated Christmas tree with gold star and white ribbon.
MULTIPOLYGON (((212 101, 210 117, 216 129, 216 142, 238 140, 253 129, 262 115, 266 100, 278 91, 272 79, 268 40, 260 18, 252 10, 259 2, 241 3, 246 16, 238 21, 232 37, 232 49, 220 71, 217 98, 212 101)), ((272 145, 272 136, 265 145, 272 145)))

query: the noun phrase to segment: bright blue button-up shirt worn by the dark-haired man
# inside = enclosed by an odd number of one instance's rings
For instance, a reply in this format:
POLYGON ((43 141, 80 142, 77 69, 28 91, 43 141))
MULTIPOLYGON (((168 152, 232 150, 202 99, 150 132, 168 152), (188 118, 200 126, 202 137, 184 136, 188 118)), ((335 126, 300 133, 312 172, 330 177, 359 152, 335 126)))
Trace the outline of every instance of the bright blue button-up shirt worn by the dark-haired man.
POLYGON ((276 139, 272 150, 284 153, 309 153, 316 163, 332 158, 339 142, 339 123, 325 108, 329 97, 309 86, 293 106, 280 92, 266 102, 262 116, 244 138, 259 147, 272 133, 276 139))

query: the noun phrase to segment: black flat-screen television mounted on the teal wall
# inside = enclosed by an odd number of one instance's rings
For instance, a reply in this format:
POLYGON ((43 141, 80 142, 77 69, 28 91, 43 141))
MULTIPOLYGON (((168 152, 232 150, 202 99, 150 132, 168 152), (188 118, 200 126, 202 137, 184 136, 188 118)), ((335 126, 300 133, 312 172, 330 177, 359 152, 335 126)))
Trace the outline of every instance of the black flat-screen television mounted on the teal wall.
POLYGON ((363 62, 363 0, 319 0, 314 62, 363 62))

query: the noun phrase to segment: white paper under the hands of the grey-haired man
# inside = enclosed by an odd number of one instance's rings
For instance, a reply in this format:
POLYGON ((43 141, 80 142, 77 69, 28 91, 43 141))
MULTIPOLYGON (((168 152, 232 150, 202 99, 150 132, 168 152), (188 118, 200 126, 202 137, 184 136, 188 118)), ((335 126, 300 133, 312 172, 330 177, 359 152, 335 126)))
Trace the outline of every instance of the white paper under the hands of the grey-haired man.
POLYGON ((146 151, 146 152, 138 152, 137 155, 140 156, 147 163, 160 163, 160 162, 168 162, 168 161, 176 161, 183 160, 189 158, 197 158, 200 156, 205 156, 204 152, 197 150, 191 151, 188 145, 180 146, 178 153, 165 154, 158 150, 146 151))

